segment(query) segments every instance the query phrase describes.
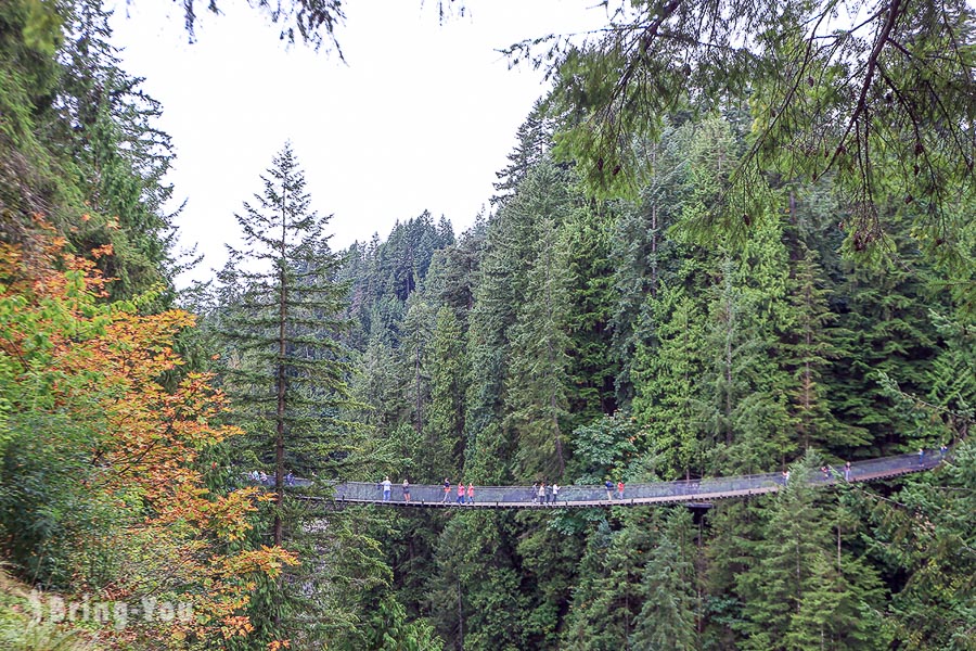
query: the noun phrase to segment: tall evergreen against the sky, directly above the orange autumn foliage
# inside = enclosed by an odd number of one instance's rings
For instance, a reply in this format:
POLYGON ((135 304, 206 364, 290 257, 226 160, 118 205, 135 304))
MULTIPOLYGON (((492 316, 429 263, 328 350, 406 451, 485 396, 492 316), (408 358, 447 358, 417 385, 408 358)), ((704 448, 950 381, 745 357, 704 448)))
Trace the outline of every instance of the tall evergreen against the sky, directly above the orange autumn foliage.
POLYGON ((166 204, 172 186, 164 181, 175 154, 170 138, 156 126, 159 102, 121 69, 119 51, 111 44, 108 14, 100 0, 72 4, 59 59, 56 138, 70 142, 72 171, 84 188, 90 210, 87 221, 65 229, 80 251, 111 244, 112 255, 99 267, 117 281, 112 297, 126 297, 165 284, 165 303, 172 299, 171 257, 175 239, 166 204), (92 217, 94 215, 94 217, 92 217))

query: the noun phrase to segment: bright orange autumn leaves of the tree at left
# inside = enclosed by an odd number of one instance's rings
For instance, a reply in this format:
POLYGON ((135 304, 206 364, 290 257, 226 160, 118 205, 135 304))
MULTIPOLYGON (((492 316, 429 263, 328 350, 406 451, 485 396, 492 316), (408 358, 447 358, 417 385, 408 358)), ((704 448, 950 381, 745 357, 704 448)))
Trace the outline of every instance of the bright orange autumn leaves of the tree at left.
POLYGON ((227 551, 240 547, 260 499, 254 488, 215 495, 195 468, 201 452, 241 433, 219 422, 228 398, 205 373, 188 372, 171 390, 160 381, 183 363, 174 339, 194 317, 142 316, 133 304, 100 304, 103 294, 93 264, 63 243, 29 257, 0 244, 0 401, 68 414, 88 433, 51 439, 74 446, 61 451, 85 460, 77 481, 125 525, 118 542, 137 560, 115 589, 178 586, 194 618, 175 623, 175 635, 247 635, 240 613, 256 577, 297 560, 281 548, 227 551))

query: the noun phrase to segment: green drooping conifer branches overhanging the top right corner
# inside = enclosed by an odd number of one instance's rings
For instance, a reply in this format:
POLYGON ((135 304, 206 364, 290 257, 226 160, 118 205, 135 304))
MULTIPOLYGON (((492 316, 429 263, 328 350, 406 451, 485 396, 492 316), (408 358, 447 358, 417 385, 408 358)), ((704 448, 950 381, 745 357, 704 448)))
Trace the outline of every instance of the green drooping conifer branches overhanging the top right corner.
POLYGON ((976 192, 976 14, 966 2, 851 1, 838 13, 833 2, 800 0, 640 1, 607 11, 605 29, 508 51, 555 77, 556 151, 578 163, 592 193, 637 194, 651 170, 634 136, 657 140, 666 116, 748 111, 749 145, 717 179, 723 196, 705 216, 712 232, 756 220, 768 170, 831 175, 852 250, 884 251, 897 230, 883 208, 894 194, 919 206, 913 237, 926 251, 971 253, 956 237, 967 221, 959 208, 976 192))

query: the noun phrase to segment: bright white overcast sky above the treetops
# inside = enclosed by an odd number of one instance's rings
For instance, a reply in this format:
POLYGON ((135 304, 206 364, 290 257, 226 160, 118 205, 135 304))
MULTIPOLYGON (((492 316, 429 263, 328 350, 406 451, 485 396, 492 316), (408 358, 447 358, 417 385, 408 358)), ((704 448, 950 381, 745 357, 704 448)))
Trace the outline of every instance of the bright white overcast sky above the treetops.
POLYGON ((124 65, 162 102, 159 127, 176 146, 180 244, 205 254, 181 283, 222 266, 233 214, 260 191, 258 175, 286 139, 313 207, 334 215, 333 248, 386 238, 424 209, 460 233, 487 212, 495 173, 545 90, 541 71, 510 71, 496 50, 606 22, 592 0, 465 0, 466 15, 444 25, 435 0, 350 0, 338 29, 344 65, 286 49, 277 26, 237 0, 220 3, 222 16, 201 11, 193 44, 179 3, 116 1, 124 65))

